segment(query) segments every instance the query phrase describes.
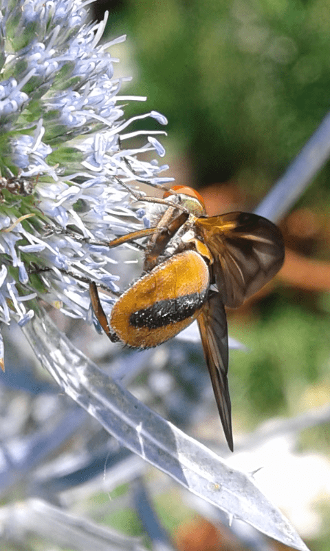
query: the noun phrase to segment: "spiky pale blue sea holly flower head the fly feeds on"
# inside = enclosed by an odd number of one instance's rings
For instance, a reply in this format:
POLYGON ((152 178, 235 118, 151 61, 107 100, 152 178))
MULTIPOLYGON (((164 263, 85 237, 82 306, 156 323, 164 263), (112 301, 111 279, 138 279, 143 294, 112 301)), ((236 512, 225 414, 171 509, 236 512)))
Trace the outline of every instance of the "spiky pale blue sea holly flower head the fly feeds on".
MULTIPOLYGON (((111 45, 99 45, 102 23, 87 22, 80 0, 0 1, 0 320, 32 319, 36 298, 86 318, 87 284, 118 289, 109 251, 90 239, 125 233, 139 217, 120 186, 157 185, 166 167, 140 154, 162 145, 157 132, 130 132, 111 45), (142 147, 129 138, 146 134, 142 147), (74 277, 76 276, 76 277, 74 277)), ((134 229, 134 225, 131 227, 134 229)), ((2 346, 2 345, 1 345, 2 346)))

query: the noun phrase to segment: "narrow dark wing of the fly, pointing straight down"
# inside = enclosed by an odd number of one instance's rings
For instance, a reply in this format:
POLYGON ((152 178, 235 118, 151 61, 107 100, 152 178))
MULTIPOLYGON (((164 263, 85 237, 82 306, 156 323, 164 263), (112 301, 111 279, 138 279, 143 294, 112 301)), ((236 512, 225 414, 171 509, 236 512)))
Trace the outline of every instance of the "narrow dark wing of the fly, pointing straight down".
POLYGON ((210 293, 207 302, 201 309, 197 322, 223 432, 230 450, 233 451, 232 416, 227 380, 228 329, 225 308, 220 300, 219 293, 210 293))

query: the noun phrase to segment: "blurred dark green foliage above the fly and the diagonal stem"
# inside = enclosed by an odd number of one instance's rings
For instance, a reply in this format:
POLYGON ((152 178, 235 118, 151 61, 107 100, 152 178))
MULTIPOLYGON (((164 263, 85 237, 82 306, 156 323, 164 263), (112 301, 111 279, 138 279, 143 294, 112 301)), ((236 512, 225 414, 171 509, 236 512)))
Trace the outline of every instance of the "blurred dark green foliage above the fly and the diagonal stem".
POLYGON ((329 110, 329 0, 121 6, 119 19, 107 4, 109 28, 133 45, 131 91, 168 117, 195 183, 235 178, 262 196, 329 110))

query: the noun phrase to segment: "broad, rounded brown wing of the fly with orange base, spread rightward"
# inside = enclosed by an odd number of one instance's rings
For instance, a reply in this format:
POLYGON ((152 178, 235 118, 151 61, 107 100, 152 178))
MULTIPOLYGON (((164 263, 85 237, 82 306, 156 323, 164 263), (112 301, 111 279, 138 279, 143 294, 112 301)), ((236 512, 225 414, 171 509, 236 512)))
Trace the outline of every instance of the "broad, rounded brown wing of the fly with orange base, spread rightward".
POLYGON ((196 226, 214 258, 214 278, 225 306, 241 306, 283 264, 281 231, 262 216, 230 212, 198 218, 196 226))

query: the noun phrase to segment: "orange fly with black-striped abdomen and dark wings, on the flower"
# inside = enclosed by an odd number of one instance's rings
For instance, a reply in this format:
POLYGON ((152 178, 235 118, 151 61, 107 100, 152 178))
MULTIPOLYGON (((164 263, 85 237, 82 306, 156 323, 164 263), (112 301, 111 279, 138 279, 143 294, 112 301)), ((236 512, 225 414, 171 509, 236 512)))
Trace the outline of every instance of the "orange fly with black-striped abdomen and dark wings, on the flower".
MULTIPOLYGON (((228 388, 228 330, 224 306, 236 308, 281 268, 281 231, 256 214, 206 216, 203 200, 184 186, 168 192, 157 225, 109 242, 148 237, 144 273, 115 302, 109 320, 90 284, 91 302, 113 341, 140 349, 175 337, 194 320, 201 333, 206 364, 225 437, 233 450, 228 388)), ((164 201, 160 201, 164 202, 164 201)))

